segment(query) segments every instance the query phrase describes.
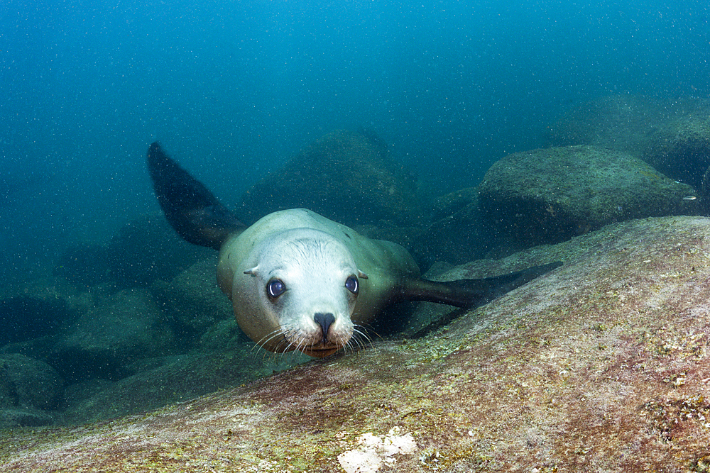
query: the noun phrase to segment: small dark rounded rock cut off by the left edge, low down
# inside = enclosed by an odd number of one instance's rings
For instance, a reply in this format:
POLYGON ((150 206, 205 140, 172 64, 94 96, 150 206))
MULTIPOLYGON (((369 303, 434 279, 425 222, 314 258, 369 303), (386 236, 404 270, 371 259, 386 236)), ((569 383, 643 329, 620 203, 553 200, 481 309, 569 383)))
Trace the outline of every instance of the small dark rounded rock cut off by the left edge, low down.
POLYGON ((64 380, 53 367, 20 355, 0 355, 0 407, 51 410, 58 407, 64 380))

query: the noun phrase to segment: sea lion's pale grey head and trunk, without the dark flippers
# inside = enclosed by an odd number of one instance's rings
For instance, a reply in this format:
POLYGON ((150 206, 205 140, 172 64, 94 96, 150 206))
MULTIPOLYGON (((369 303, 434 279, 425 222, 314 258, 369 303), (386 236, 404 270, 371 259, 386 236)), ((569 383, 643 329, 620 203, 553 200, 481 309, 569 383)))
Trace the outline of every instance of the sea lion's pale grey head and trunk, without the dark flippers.
POLYGON ((313 356, 347 345, 357 325, 381 312, 403 281, 418 277, 404 247, 365 238, 305 208, 270 213, 231 235, 217 267, 219 287, 252 340, 283 351, 280 335, 288 333, 288 343, 313 356), (357 278, 356 295, 344 285, 348 277, 357 278), (265 289, 271 279, 288 288, 278 304, 265 289), (334 316, 327 338, 316 313, 334 316))

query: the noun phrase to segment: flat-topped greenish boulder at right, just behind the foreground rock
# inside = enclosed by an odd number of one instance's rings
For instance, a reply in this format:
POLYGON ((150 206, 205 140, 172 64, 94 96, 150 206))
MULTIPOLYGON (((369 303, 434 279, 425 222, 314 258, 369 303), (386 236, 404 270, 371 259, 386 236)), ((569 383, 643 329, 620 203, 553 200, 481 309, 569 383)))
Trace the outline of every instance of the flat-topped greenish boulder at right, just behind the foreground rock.
POLYGON ((697 200, 686 196, 695 196, 692 187, 636 157, 569 146, 496 162, 479 186, 479 208, 498 245, 522 249, 632 218, 698 213, 697 200))

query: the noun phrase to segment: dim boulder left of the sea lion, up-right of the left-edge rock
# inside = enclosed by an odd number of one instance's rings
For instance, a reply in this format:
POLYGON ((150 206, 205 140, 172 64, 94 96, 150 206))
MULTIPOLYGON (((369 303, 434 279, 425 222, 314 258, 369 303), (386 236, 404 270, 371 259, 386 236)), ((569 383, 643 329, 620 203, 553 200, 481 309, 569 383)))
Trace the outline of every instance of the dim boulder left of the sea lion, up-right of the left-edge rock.
POLYGON ((175 339, 146 289, 124 289, 84 313, 58 343, 49 362, 71 381, 131 374, 134 360, 168 355, 175 339))

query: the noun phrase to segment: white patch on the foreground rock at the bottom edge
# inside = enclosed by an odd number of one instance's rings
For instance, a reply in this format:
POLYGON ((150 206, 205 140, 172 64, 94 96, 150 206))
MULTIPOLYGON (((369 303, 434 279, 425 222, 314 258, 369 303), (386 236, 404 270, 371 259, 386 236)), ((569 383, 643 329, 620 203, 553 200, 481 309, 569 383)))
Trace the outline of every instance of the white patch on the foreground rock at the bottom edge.
POLYGON ((399 428, 393 427, 387 435, 373 435, 371 432, 359 436, 360 447, 338 455, 338 462, 346 473, 375 473, 383 463, 394 464, 394 455, 406 455, 417 450, 412 434, 399 435, 399 428))

